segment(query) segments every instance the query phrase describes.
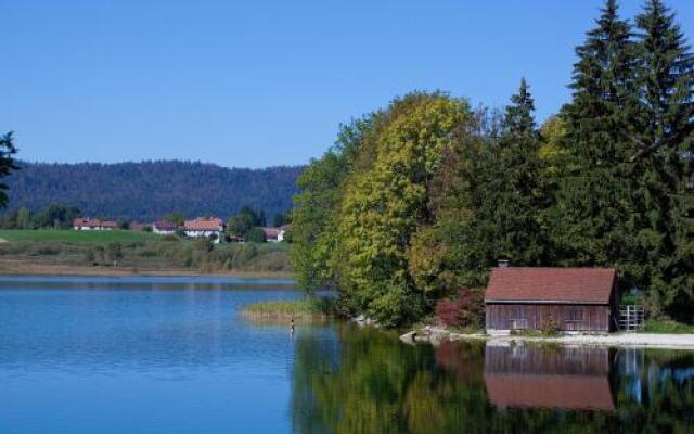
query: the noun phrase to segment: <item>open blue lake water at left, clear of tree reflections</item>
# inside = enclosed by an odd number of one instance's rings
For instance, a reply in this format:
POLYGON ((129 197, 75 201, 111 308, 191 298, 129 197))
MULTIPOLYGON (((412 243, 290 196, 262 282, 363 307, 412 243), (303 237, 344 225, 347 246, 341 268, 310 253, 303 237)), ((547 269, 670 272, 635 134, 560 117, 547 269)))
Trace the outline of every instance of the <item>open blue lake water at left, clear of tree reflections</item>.
POLYGON ((240 308, 291 283, 0 278, 0 433, 290 432, 295 341, 240 308))

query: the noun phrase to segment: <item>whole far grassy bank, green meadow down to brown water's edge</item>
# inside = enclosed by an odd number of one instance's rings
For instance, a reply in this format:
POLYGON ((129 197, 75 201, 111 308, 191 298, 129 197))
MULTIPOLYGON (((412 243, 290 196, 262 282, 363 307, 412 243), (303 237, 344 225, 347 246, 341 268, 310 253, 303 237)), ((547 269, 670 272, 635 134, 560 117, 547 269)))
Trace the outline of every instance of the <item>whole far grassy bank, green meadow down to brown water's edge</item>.
POLYGON ((9 241, 0 243, 3 273, 292 273, 281 243, 211 244, 137 231, 0 231, 0 237, 9 241))

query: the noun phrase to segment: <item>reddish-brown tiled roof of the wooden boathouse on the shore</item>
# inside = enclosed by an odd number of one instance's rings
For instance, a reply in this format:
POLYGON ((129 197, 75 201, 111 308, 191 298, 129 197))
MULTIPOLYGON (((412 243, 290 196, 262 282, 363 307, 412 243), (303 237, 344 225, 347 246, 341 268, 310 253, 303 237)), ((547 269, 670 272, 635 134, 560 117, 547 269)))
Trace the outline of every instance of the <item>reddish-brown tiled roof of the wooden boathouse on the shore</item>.
POLYGON ((494 268, 485 301, 609 304, 616 277, 612 268, 494 268))

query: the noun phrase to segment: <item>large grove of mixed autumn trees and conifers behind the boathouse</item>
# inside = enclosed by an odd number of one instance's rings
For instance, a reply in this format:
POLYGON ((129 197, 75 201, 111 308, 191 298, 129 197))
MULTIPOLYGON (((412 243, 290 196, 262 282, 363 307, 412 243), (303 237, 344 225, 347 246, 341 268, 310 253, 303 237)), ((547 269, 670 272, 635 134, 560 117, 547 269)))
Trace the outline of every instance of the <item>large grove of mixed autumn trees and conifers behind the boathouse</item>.
POLYGON ((570 102, 537 125, 412 92, 340 127, 298 179, 292 260, 308 290, 386 326, 515 266, 616 267, 652 316, 694 315, 694 56, 674 14, 607 0, 576 48, 570 102))

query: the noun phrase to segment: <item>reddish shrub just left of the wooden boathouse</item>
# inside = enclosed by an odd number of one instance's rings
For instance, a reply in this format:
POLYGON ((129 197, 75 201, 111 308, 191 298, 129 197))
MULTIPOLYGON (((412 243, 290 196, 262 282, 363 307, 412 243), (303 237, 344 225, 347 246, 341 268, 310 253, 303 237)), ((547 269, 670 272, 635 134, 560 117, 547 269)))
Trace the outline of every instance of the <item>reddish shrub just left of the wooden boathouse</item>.
POLYGON ((480 327, 485 318, 484 293, 463 288, 451 298, 436 304, 436 315, 447 327, 480 327))

